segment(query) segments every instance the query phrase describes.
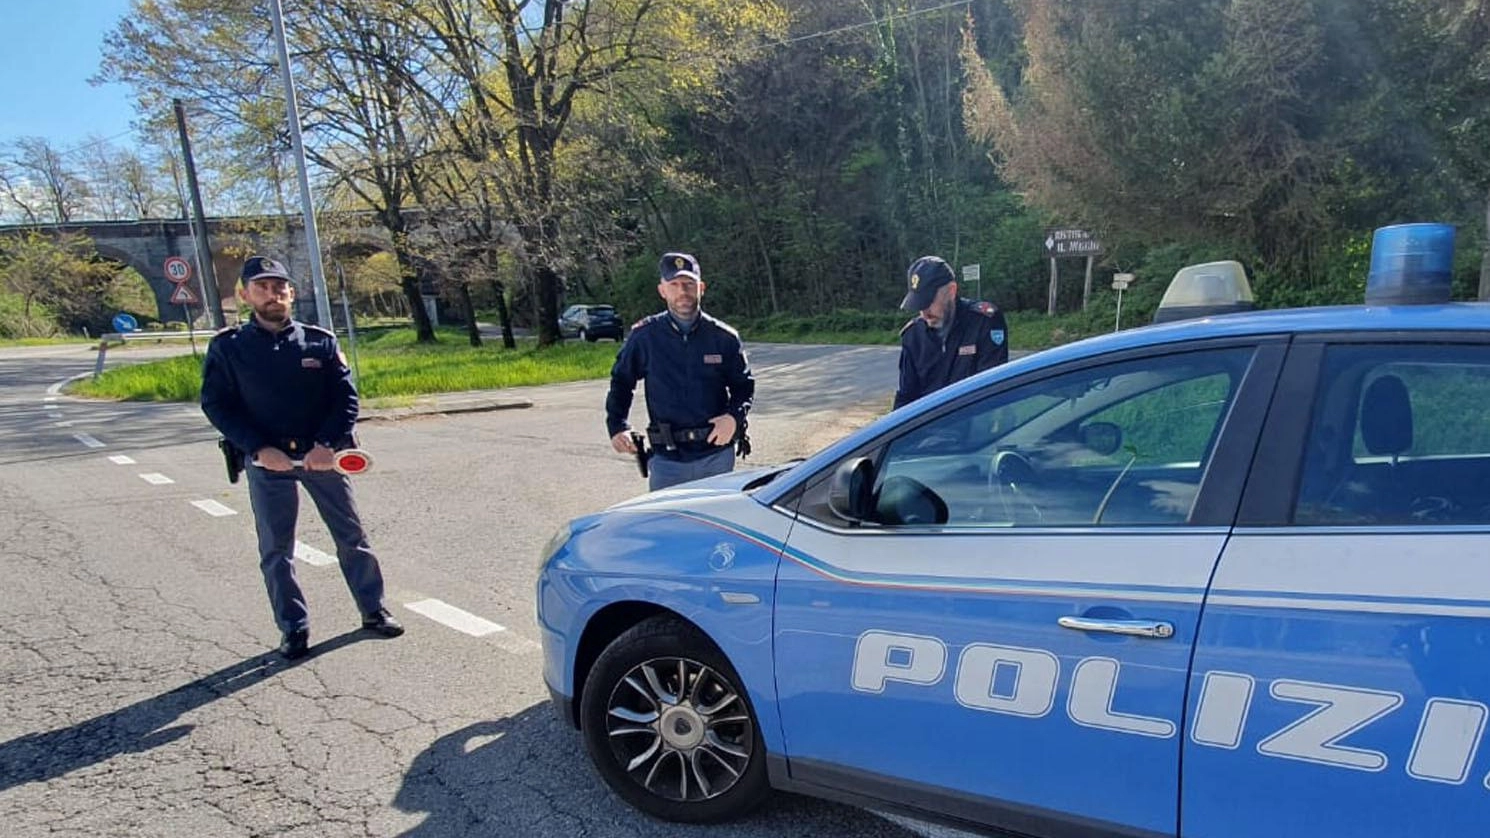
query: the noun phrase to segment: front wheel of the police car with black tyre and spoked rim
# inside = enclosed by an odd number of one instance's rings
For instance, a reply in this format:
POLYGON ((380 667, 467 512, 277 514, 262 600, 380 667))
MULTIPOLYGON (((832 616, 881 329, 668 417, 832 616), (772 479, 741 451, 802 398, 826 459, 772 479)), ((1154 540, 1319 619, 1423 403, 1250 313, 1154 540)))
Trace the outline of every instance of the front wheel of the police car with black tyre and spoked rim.
POLYGON ((681 619, 653 617, 605 647, 584 684, 580 726, 611 790, 653 817, 718 823, 770 793, 766 746, 735 667, 681 619))

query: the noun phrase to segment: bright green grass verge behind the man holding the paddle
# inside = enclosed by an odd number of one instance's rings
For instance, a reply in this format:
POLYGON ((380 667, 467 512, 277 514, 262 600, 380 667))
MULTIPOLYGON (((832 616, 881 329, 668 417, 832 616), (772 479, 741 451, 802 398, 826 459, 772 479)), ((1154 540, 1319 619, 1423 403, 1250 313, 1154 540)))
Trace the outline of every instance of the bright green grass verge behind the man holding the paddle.
MULTIPOLYGON (((402 403, 431 392, 548 385, 609 374, 615 344, 566 341, 538 349, 532 341, 502 349, 501 341, 472 347, 456 330, 441 330, 440 343, 420 346, 408 328, 359 333, 358 389, 364 398, 402 403)), ((343 344, 346 350, 346 343, 343 344)), ((106 371, 72 391, 77 395, 131 401, 197 401, 201 359, 180 355, 106 371)))

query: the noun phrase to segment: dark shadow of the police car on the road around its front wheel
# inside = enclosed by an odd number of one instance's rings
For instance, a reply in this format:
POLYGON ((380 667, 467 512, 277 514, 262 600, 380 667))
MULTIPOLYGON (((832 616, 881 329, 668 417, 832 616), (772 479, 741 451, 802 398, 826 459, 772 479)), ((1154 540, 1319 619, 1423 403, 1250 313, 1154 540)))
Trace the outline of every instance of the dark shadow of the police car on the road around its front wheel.
POLYGON ((609 793, 590 765, 578 731, 544 702, 435 740, 404 775, 393 805, 429 813, 404 838, 523 835, 913 835, 869 811, 776 795, 748 819, 717 826, 662 823, 609 793))

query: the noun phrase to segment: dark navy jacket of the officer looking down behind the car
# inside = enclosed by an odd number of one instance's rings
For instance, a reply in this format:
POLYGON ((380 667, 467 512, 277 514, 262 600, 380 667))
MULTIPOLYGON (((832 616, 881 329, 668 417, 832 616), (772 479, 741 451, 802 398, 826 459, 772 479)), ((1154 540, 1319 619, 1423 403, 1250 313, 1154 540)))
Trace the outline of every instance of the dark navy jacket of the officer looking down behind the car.
POLYGON ((895 407, 1009 359, 1009 324, 992 303, 957 300, 943 340, 921 318, 900 330, 900 386, 895 407))

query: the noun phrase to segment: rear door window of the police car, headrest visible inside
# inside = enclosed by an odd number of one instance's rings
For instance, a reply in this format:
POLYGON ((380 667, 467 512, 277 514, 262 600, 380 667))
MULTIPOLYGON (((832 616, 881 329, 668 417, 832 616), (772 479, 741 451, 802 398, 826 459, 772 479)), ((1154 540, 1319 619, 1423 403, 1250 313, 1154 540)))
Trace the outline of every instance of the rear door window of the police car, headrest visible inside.
POLYGON ((1490 523, 1490 347, 1325 353, 1293 522, 1490 523))

